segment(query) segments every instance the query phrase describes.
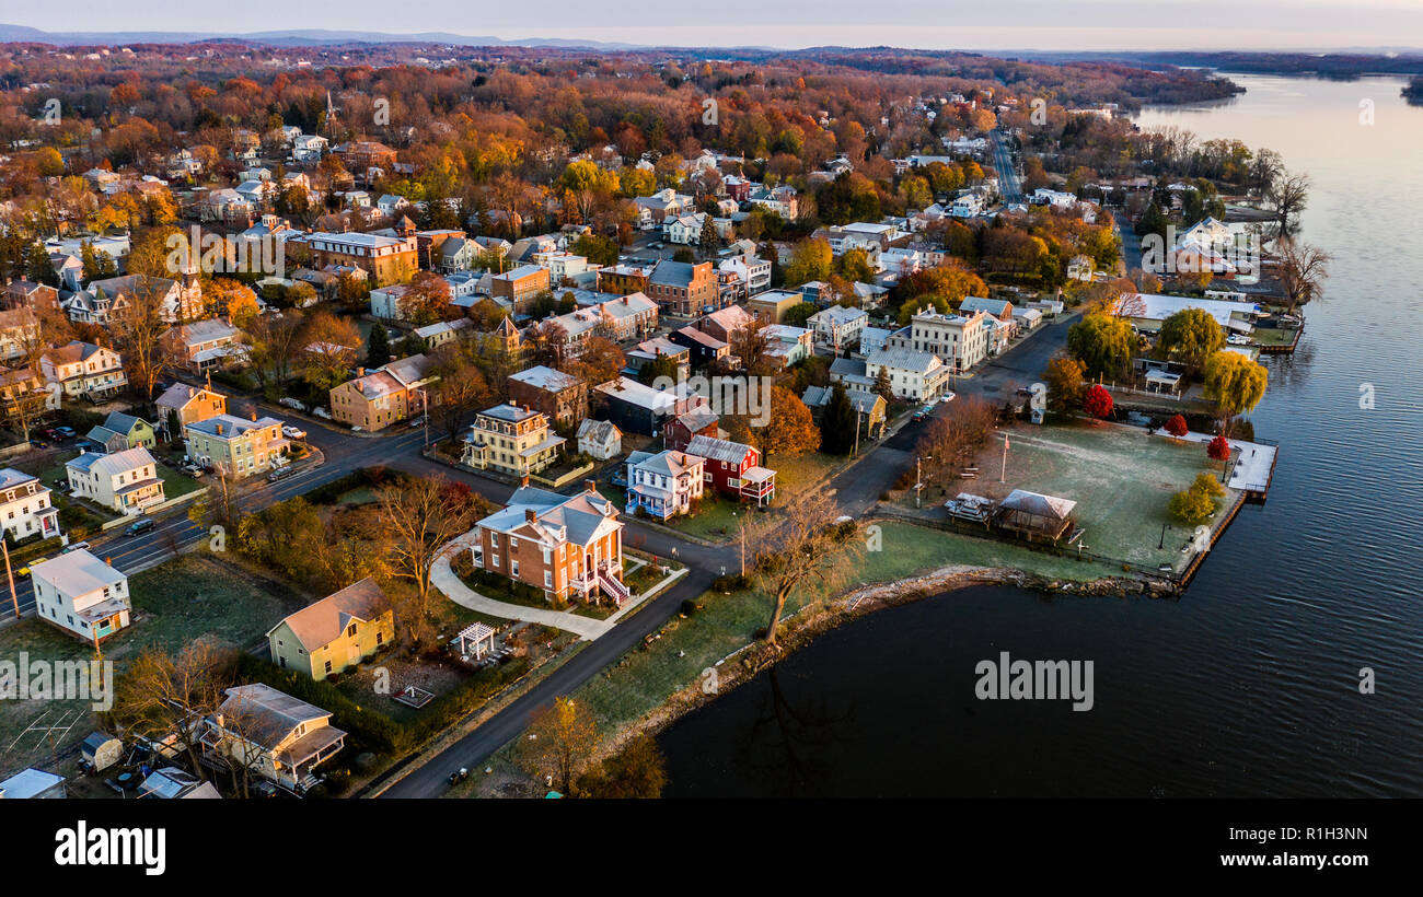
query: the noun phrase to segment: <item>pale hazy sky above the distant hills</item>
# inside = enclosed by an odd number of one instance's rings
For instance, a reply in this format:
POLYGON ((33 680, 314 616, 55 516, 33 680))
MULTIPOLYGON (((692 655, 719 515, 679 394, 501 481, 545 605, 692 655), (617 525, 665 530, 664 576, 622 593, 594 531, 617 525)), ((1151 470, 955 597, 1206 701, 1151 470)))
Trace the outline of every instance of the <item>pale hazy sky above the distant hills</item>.
POLYGON ((408 7, 387 0, 243 0, 238 7, 65 0, 0 11, 0 21, 47 31, 340 28, 686 47, 1423 48, 1423 0, 425 0, 408 7))

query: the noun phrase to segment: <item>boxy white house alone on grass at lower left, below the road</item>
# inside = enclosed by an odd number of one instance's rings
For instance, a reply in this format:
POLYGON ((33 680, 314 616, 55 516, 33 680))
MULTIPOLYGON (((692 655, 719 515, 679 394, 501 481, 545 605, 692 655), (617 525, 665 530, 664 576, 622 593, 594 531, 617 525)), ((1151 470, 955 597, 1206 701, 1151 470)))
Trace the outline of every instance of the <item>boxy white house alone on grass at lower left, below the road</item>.
POLYGON ((128 625, 128 577, 85 549, 30 567, 40 618, 98 644, 128 625))

